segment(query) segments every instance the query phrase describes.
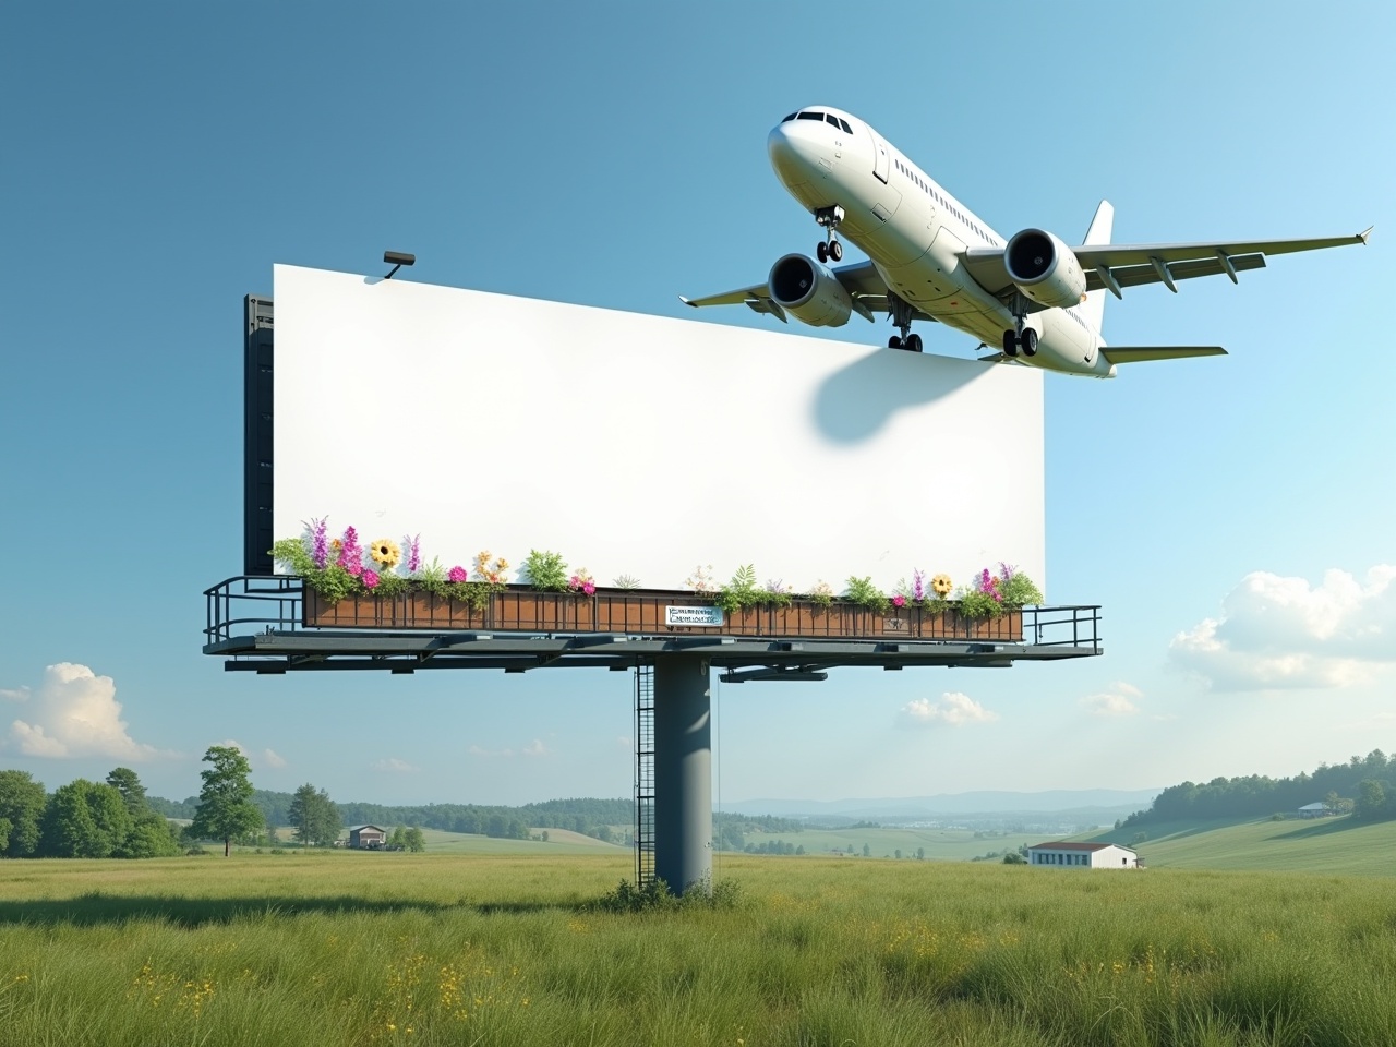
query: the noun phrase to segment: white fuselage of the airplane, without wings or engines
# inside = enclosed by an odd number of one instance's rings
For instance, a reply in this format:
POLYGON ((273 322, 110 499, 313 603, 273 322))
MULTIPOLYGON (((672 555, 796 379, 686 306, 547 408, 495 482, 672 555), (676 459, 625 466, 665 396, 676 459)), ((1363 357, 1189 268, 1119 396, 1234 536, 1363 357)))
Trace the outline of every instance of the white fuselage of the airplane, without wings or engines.
MULTIPOLYGON (((896 296, 988 346, 1000 345, 1015 325, 1013 314, 962 268, 959 255, 966 247, 1002 248, 1004 237, 868 124, 829 106, 801 112, 815 110, 846 121, 852 134, 824 119, 776 124, 766 149, 790 195, 810 211, 840 207, 838 233, 868 255, 896 296)), ((1037 355, 1019 362, 1114 377, 1090 315, 1079 306, 1029 313, 1023 325, 1037 332, 1037 355)))

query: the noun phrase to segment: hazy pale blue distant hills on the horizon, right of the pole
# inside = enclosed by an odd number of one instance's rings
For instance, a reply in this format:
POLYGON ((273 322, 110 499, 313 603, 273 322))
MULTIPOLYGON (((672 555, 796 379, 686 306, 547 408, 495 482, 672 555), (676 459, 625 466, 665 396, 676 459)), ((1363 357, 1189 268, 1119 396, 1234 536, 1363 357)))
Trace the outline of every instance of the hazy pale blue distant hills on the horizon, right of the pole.
POLYGON ((1159 792, 1159 789, 1048 789, 1040 793, 980 790, 856 800, 757 799, 736 803, 723 801, 722 810, 736 814, 775 814, 786 818, 874 821, 930 821, 966 814, 1082 814, 1099 811, 1099 821, 1114 821, 1117 817, 1149 807, 1159 792))

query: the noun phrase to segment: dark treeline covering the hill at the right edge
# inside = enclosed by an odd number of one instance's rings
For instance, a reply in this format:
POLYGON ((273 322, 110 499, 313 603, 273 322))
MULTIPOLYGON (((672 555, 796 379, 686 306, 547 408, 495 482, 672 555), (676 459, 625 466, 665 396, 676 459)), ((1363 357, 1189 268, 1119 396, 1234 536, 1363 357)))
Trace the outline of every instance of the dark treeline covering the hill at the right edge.
POLYGON ((1354 799, 1364 793, 1368 803, 1358 817, 1396 817, 1381 814, 1388 810, 1389 783, 1396 780, 1396 757, 1388 759, 1379 748, 1365 757, 1353 757, 1346 764, 1319 764, 1314 773, 1300 773, 1293 778, 1213 778, 1205 785, 1184 782, 1168 786, 1153 799, 1146 811, 1135 811, 1117 822, 1115 828, 1127 825, 1148 825, 1164 821, 1202 821, 1206 818, 1261 818, 1273 814, 1290 814, 1312 803, 1328 803, 1333 811, 1353 808, 1354 799), (1378 790, 1364 787, 1374 783, 1378 790), (1347 803, 1344 803, 1344 800, 1347 803))

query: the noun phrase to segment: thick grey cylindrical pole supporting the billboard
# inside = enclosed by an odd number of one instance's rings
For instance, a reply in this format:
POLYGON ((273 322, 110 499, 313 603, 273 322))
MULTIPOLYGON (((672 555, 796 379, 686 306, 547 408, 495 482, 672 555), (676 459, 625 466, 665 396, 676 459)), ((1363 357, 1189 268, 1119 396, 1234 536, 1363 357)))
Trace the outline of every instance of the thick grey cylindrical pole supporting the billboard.
POLYGON ((655 659, 655 874, 712 889, 712 683, 702 655, 655 659))

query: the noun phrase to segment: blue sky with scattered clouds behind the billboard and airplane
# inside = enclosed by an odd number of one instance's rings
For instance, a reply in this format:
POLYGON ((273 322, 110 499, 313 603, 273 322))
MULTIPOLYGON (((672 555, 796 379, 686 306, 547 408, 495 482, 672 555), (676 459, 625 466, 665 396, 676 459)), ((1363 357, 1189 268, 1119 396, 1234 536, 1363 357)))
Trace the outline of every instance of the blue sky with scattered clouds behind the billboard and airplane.
MULTIPOLYGON (((339 800, 628 794, 621 674, 257 678, 200 653, 201 592, 240 570, 242 296, 274 262, 377 272, 395 248, 412 279, 687 314, 677 295, 812 247, 765 134, 817 102, 1004 236, 1075 240, 1101 197, 1117 240, 1378 228, 1107 306, 1117 345, 1226 359, 1048 377, 1051 596, 1104 606, 1104 658, 723 688, 723 797, 1148 787, 1396 748, 1389 6, 853 10, 8 10, 0 766, 52 789, 128 764, 183 797, 236 740, 257 785, 339 800)), ((886 336, 854 324, 825 334, 886 336)), ((1016 452, 991 423, 965 444, 988 473, 1016 452)))

